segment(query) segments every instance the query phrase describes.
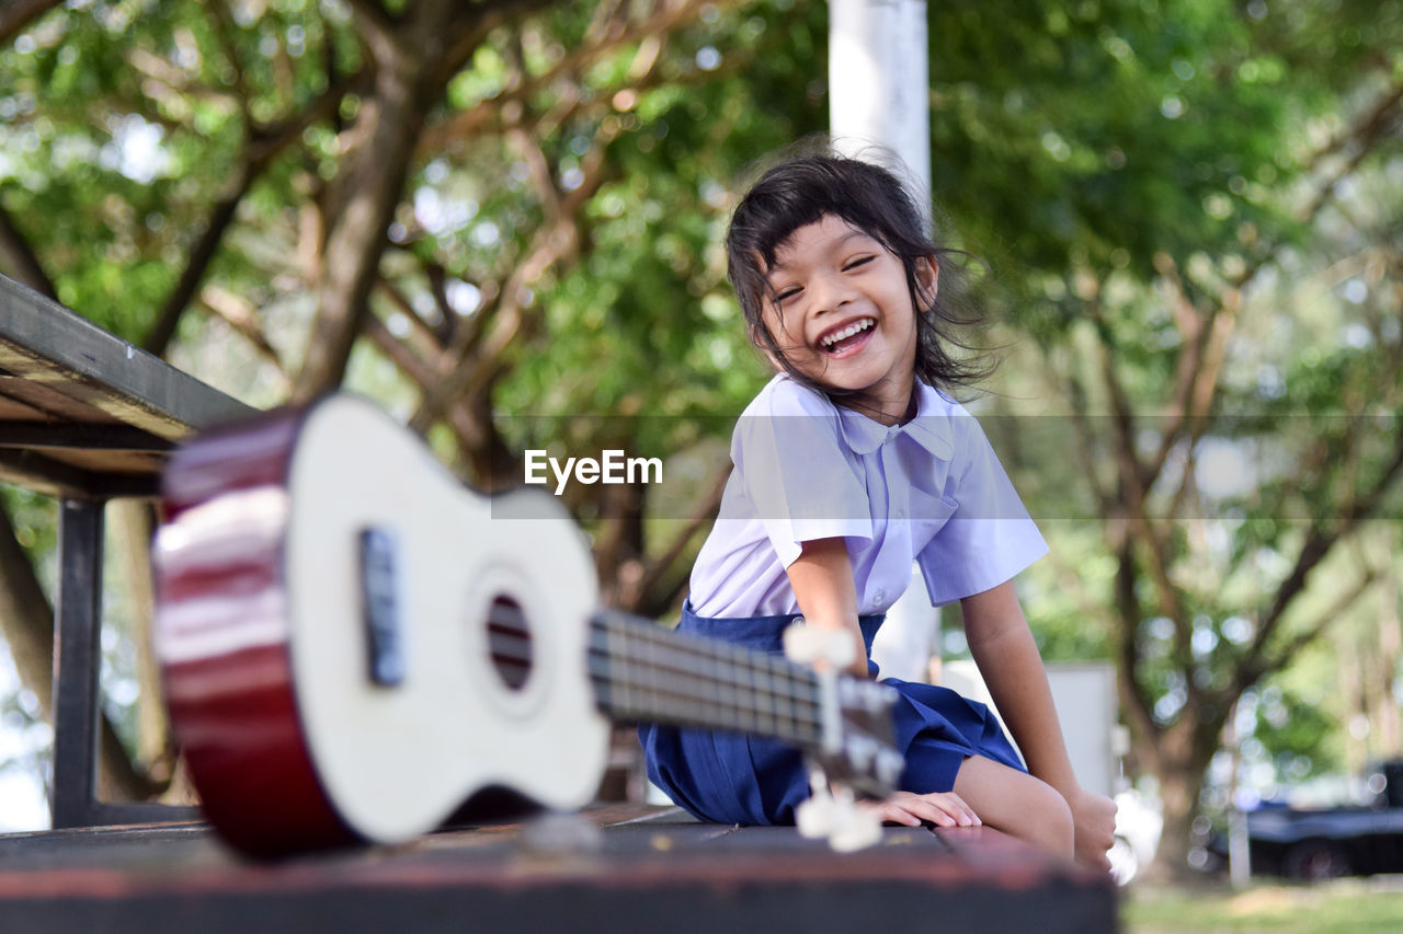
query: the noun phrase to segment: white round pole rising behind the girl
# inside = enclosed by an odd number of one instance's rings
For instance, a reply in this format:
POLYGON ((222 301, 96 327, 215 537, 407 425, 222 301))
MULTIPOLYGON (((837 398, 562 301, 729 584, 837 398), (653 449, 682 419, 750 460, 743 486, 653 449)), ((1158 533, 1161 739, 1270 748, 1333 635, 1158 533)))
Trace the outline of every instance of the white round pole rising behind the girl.
MULTIPOLYGON (((930 74, 926 0, 829 0, 828 123, 838 151, 888 168, 895 156, 930 223, 930 74)), ((932 679, 940 652, 940 614, 920 574, 873 645, 884 675, 932 679)))

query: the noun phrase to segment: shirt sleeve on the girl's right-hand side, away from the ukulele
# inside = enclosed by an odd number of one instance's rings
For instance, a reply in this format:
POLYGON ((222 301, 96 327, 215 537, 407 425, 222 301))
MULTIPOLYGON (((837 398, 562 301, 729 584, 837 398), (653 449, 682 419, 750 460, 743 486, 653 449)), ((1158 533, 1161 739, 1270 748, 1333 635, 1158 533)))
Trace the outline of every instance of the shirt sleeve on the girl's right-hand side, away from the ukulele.
POLYGON ((944 499, 955 508, 916 555, 934 606, 998 586, 1048 553, 979 422, 962 410, 951 421, 957 470, 944 499))

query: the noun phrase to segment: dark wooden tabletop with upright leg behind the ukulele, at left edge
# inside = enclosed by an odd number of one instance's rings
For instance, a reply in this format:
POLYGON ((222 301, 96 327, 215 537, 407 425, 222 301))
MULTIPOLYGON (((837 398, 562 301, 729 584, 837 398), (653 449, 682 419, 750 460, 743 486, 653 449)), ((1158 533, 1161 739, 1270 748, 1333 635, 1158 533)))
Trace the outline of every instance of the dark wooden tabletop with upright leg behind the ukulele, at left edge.
POLYGON ((0 276, 0 481, 60 502, 49 795, 55 827, 182 813, 95 799, 102 513, 116 496, 154 496, 178 440, 248 411, 0 276))

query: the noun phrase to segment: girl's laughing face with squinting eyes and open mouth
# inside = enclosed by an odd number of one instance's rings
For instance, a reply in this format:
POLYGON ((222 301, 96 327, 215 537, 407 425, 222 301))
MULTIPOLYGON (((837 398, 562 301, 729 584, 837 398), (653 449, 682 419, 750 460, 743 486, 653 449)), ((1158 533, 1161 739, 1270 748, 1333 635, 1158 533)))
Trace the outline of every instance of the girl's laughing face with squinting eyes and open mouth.
MULTIPOLYGON (((934 264, 919 269, 934 297, 934 264)), ((878 421, 902 421, 916 379, 916 309, 902 261, 825 215, 784 241, 767 278, 777 304, 766 306, 765 325, 790 365, 822 386, 860 391, 878 421)))

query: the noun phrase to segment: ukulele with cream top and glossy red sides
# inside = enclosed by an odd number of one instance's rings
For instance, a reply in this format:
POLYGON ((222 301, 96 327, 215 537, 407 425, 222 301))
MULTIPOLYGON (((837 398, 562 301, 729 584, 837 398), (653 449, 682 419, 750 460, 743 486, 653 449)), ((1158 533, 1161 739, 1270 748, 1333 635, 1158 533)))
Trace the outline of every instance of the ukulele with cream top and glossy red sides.
MULTIPOLYGON (((612 721, 804 749, 801 832, 842 848, 873 839, 853 795, 890 794, 904 766, 891 689, 596 609, 554 496, 462 487, 362 400, 202 435, 171 457, 163 506, 154 648, 173 732, 246 853, 408 840, 495 788, 578 808, 612 721)), ((818 634, 788 641, 812 656, 818 634)))

